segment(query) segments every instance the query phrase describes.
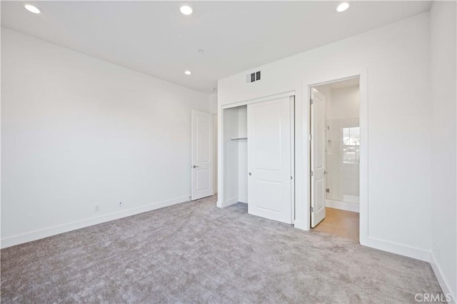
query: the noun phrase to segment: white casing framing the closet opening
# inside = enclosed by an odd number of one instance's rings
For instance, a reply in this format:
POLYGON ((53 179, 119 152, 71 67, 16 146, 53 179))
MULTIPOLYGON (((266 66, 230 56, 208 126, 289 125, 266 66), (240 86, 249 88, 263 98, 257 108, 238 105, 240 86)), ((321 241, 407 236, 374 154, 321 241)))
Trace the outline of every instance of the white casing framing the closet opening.
MULTIPOLYGON (((295 108, 295 96, 296 96, 296 92, 295 91, 288 91, 288 92, 284 92, 284 93, 278 93, 278 94, 274 94, 274 95, 269 95, 269 96, 263 96, 263 97, 260 97, 260 98, 253 98, 253 99, 248 99, 246 101, 239 101, 239 102, 236 102, 236 103, 229 103, 229 104, 226 104, 226 105, 223 105, 221 106, 219 109, 220 109, 220 115, 218 115, 218 142, 219 142, 219 147, 218 147, 218 150, 219 150, 219 159, 218 159, 218 165, 219 167, 221 168, 221 170, 218 172, 219 174, 219 178, 218 178, 218 183, 220 185, 220 187, 218 186, 218 201, 216 203, 216 206, 218 206, 219 208, 225 208, 227 206, 230 206, 232 205, 233 203, 230 203, 230 202, 226 202, 226 198, 225 198, 225 189, 224 189, 224 186, 225 186, 225 178, 224 178, 224 172, 225 172, 225 162, 224 162, 224 151, 225 151, 225 146, 224 146, 224 134, 225 134, 225 130, 224 130, 224 124, 225 124, 225 118, 224 118, 224 110, 226 110, 227 108, 236 108, 238 106, 247 106, 248 104, 252 104, 252 103, 259 103, 259 102, 262 102, 262 101, 270 101, 272 99, 276 99, 276 98, 283 98, 283 97, 290 97, 291 100, 293 101, 293 105, 294 105, 294 108, 295 108)), ((293 134, 296 133, 296 125, 295 125, 295 116, 297 115, 296 112, 294 112, 294 117, 291 117, 291 126, 294 126, 294 128, 291 130, 293 134)), ((295 141, 297 140, 297 138, 293 138, 293 144, 291 144, 291 148, 294 148, 295 147, 295 141)), ((291 153, 293 153, 293 155, 295 155, 295 151, 291 151, 291 153)), ((292 160, 292 164, 291 166, 295 167, 295 161, 292 160)), ((291 174, 293 176, 293 183, 292 184, 295 184, 295 170, 291 171, 291 174)), ((292 215, 291 215, 291 219, 292 219, 292 223, 294 222, 295 220, 295 209, 296 209, 296 200, 295 200, 295 188, 296 186, 293 186, 291 191, 292 191, 292 206, 291 206, 291 211, 292 211, 292 215)))

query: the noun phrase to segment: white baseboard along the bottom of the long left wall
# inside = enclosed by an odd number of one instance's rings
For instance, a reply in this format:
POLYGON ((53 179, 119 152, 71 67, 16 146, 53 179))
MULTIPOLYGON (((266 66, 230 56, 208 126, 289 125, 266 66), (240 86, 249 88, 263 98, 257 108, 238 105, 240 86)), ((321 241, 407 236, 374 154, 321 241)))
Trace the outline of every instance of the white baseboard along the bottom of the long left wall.
POLYGON ((125 218, 126 216, 134 216, 135 214, 144 213, 147 211, 153 211, 155 209, 163 208, 166 206, 175 205, 177 203, 184 203, 189 201, 189 196, 181 196, 180 198, 173 198, 168 201, 162 201, 159 203, 152 203, 150 205, 130 208, 119 212, 108 213, 103 216, 97 216, 94 218, 88 218, 82 221, 76 221, 72 223, 66 223, 59 226, 44 228, 40 230, 30 231, 28 233, 22 233, 19 235, 9 236, 1 239, 1 248, 7 248, 21 243, 30 242, 32 240, 39 240, 40 238, 47 238, 51 235, 57 235, 60 233, 69 232, 76 229, 81 229, 89 226, 94 226, 100 223, 105 223, 119 218, 125 218))

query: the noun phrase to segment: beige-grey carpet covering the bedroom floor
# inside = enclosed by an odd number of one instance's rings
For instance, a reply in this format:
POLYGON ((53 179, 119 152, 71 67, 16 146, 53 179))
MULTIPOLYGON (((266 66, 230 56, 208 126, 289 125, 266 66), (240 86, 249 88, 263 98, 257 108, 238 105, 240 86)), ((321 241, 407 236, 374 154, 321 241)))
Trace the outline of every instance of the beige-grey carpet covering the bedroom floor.
POLYGON ((1 303, 414 303, 428 263, 216 198, 1 250, 1 303))

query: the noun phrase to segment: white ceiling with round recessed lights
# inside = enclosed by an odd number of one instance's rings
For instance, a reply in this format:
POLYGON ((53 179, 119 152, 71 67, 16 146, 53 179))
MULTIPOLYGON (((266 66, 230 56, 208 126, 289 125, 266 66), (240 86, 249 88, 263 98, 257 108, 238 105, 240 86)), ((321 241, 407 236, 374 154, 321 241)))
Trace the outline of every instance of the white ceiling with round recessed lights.
POLYGON ((428 11, 430 1, 1 1, 1 25, 212 93, 217 80, 428 11), (204 49, 204 54, 199 53, 204 49), (191 76, 184 75, 192 71, 191 76))

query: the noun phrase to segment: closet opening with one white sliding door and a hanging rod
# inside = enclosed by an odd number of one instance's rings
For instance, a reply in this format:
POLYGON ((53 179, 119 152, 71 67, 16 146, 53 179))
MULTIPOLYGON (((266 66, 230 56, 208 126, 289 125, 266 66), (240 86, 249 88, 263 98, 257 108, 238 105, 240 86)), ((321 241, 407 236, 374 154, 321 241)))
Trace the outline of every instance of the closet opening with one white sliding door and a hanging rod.
POLYGON ((289 92, 222 107, 219 207, 293 223, 294 105, 289 92))

